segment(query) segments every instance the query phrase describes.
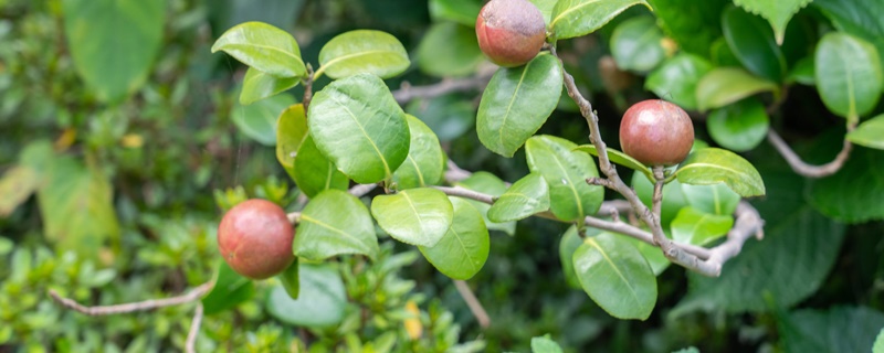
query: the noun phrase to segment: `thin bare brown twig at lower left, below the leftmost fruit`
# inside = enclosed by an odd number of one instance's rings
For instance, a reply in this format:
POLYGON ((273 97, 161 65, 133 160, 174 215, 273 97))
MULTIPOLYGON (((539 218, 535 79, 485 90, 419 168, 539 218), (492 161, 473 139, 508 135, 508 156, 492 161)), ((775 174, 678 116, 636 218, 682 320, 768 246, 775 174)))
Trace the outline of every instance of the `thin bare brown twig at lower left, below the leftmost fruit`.
POLYGON ((62 304, 67 309, 74 310, 80 313, 84 313, 91 317, 99 317, 99 315, 112 315, 112 314, 119 314, 119 313, 128 313, 135 311, 146 311, 152 310, 156 308, 165 308, 165 307, 172 307, 179 306, 183 303, 188 303, 191 301, 199 300, 204 293, 207 293, 210 289, 212 289, 212 282, 206 282, 197 288, 193 288, 186 295, 171 297, 166 299, 148 299, 145 301, 138 302, 130 302, 125 304, 115 304, 115 306, 95 306, 95 307, 86 307, 83 306, 73 299, 64 298, 59 295, 53 289, 49 290, 49 296, 52 297, 55 302, 62 304))

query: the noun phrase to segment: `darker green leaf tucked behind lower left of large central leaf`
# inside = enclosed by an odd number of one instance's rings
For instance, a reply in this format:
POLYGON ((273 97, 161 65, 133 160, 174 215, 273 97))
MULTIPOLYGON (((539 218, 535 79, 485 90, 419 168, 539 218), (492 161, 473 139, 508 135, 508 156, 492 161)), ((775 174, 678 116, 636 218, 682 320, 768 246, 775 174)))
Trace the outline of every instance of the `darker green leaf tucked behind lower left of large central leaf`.
POLYGON ((347 175, 338 171, 335 163, 319 152, 309 135, 297 149, 293 174, 295 184, 308 197, 314 197, 325 190, 347 190, 350 186, 347 175))

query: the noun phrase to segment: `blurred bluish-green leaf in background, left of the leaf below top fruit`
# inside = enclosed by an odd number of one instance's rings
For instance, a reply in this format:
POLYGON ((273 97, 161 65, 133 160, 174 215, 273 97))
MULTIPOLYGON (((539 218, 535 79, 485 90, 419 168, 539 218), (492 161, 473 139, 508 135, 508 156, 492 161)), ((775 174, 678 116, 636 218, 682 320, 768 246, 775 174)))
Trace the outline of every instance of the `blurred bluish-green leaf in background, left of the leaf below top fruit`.
POLYGON ((451 141, 475 127, 476 108, 470 100, 460 95, 418 98, 406 106, 406 113, 425 122, 440 141, 451 141))

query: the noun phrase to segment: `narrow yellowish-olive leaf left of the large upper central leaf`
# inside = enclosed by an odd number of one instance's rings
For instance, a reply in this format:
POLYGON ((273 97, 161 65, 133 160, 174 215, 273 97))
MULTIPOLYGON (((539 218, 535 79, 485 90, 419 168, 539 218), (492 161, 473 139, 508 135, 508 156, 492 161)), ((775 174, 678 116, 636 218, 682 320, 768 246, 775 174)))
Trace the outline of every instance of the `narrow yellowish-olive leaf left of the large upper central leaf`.
POLYGON ((276 160, 294 178, 295 157, 307 139, 307 115, 304 105, 285 108, 276 119, 276 160))

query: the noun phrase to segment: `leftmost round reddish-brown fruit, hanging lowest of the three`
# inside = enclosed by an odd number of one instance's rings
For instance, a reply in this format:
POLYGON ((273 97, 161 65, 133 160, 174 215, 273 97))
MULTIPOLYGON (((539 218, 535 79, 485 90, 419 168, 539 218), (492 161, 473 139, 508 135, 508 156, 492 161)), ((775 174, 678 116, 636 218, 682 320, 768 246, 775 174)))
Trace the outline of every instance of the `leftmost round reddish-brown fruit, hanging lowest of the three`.
POLYGON ((230 208, 218 225, 218 247, 224 260, 252 279, 282 272, 295 256, 295 232, 285 211, 276 204, 252 199, 230 208))

